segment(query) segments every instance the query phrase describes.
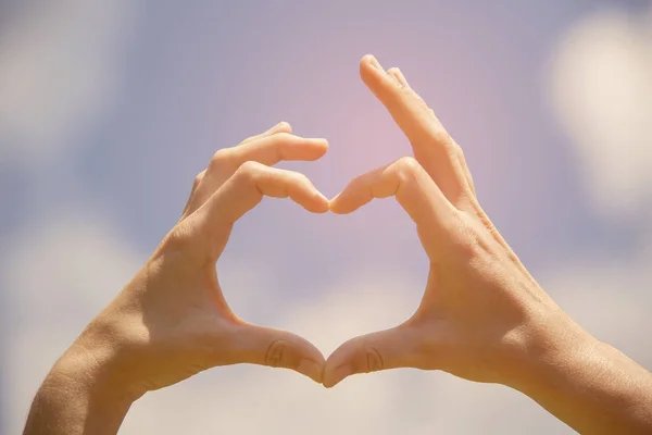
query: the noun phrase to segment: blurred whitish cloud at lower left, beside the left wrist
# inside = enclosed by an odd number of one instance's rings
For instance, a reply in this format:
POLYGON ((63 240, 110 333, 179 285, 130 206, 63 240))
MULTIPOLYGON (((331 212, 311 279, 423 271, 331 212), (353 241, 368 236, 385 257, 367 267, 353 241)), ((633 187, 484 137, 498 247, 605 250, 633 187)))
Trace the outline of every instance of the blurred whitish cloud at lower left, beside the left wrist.
POLYGON ((145 261, 88 209, 48 213, 3 244, 5 433, 21 433, 33 395, 57 358, 145 261))

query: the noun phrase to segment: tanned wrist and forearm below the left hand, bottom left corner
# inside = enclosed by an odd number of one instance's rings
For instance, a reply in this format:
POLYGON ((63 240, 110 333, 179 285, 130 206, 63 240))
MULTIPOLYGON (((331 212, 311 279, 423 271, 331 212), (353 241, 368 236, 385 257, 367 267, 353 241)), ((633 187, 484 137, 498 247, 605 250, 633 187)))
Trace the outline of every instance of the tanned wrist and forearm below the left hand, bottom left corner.
POLYGON ((39 388, 24 435, 116 434, 133 398, 97 356, 66 352, 39 388))

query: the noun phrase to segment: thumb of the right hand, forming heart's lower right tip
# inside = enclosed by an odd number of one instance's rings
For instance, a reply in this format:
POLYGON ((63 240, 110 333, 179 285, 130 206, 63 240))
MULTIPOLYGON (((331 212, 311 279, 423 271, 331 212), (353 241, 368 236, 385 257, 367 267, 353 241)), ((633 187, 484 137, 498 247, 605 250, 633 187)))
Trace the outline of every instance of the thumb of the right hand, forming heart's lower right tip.
POLYGON ((328 357, 324 386, 330 388, 356 373, 415 366, 415 343, 404 325, 352 338, 328 357))

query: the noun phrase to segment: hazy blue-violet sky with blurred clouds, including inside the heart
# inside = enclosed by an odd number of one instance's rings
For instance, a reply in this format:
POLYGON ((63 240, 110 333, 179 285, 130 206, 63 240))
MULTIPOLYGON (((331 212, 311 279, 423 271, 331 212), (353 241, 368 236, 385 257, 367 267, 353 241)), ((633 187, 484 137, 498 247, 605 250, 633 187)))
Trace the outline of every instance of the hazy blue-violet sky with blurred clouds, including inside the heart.
MULTIPOLYGON (((652 369, 652 7, 645 1, 0 0, 0 431, 178 220, 220 148, 279 121, 326 196, 410 153, 358 75, 399 66, 478 198, 579 324, 652 369)), ((427 259, 392 200, 339 216, 265 199, 218 261, 243 319, 328 356, 412 314, 427 259)), ((573 433, 441 372, 217 368, 146 395, 121 434, 573 433)))

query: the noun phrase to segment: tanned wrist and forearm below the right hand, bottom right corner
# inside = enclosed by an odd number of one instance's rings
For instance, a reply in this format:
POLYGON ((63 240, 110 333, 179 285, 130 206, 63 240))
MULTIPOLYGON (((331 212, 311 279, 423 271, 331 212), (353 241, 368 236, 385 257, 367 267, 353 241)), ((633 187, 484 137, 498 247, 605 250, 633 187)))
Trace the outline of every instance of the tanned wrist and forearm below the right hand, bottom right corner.
POLYGON ((652 433, 652 374, 595 339, 534 362, 514 386, 579 433, 652 433))

